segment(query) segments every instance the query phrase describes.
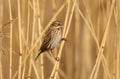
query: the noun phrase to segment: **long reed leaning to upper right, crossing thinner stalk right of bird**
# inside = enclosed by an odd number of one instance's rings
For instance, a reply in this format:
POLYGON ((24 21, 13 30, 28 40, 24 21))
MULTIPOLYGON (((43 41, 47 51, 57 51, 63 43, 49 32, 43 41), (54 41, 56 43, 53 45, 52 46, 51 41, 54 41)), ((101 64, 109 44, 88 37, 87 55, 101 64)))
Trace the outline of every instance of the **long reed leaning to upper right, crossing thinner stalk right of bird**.
POLYGON ((96 63, 94 65, 94 68, 93 68, 92 73, 90 75, 90 79, 93 79, 93 78, 96 79, 96 77, 97 77, 96 75, 98 74, 98 71, 96 71, 96 73, 95 73, 95 70, 96 70, 96 68, 98 68, 98 66, 100 66, 100 61, 102 59, 102 53, 103 53, 105 42, 106 42, 106 38, 107 38, 107 33, 108 33, 108 28, 109 28, 111 16, 112 16, 112 13, 113 13, 113 10, 114 10, 114 4, 115 4, 115 0, 113 0, 112 4, 111 4, 110 13, 109 13, 109 17, 108 17, 108 21, 107 21, 107 25, 106 25, 106 30, 105 30, 105 33, 103 35, 103 39, 102 39, 100 48, 98 50, 98 57, 96 59, 96 63))

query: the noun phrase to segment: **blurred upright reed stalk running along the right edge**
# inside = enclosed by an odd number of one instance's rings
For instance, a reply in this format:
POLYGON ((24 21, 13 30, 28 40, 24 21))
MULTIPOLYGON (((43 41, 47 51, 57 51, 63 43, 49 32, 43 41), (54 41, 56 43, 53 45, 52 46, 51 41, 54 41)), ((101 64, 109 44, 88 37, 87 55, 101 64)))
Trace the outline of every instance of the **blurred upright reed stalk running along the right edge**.
POLYGON ((116 51, 116 75, 115 75, 115 78, 116 79, 120 79, 120 49, 119 49, 119 47, 120 47, 120 27, 119 27, 119 22, 118 22, 118 20, 119 20, 119 11, 118 11, 118 9, 119 9, 119 2, 117 3, 118 1, 116 1, 116 7, 115 7, 115 9, 114 9, 114 17, 115 17, 115 25, 116 25, 116 49, 117 49, 117 51, 116 51))

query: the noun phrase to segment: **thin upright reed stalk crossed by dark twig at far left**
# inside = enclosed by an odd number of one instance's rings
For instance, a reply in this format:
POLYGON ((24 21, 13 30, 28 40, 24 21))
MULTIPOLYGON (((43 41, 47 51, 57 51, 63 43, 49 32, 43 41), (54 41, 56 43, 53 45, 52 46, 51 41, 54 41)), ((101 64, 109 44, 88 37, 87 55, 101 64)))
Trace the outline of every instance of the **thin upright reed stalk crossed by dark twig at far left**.
MULTIPOLYGON (((9 16, 10 16, 10 20, 12 20, 12 8, 11 8, 11 1, 8 0, 8 5, 9 5, 9 16)), ((13 32, 13 24, 10 23, 10 66, 9 66, 9 79, 12 79, 12 32, 13 32)))

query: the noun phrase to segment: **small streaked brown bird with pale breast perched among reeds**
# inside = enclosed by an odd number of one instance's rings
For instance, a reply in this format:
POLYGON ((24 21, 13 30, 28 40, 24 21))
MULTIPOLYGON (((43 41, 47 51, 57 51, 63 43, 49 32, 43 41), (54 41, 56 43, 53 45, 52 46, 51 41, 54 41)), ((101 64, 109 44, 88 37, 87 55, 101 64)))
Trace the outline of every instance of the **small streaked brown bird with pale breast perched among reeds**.
POLYGON ((54 49, 62 40, 63 24, 60 21, 53 21, 45 33, 41 47, 35 60, 38 59, 41 53, 54 49))

